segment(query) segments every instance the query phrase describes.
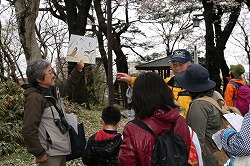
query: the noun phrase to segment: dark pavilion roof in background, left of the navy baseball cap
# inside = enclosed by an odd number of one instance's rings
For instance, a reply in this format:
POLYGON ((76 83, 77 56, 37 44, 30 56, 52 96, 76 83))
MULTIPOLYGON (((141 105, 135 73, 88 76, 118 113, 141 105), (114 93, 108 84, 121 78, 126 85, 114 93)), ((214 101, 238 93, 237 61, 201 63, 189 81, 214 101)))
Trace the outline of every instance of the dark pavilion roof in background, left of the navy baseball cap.
POLYGON ((158 72, 160 76, 166 78, 170 76, 170 70, 171 70, 171 66, 169 63, 170 58, 171 57, 165 57, 148 63, 143 63, 135 66, 135 69, 158 72))

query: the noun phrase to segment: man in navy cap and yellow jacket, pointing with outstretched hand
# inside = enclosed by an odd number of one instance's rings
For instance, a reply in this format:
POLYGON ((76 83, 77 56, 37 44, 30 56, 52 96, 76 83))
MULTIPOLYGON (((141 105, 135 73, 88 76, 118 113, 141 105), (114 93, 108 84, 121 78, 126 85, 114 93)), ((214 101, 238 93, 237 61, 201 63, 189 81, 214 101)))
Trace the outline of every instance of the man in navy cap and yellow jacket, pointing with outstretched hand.
MULTIPOLYGON (((177 49, 173 52, 170 63, 173 76, 165 78, 165 82, 168 84, 169 88, 174 94, 174 98, 179 105, 180 114, 186 118, 189 104, 192 101, 192 98, 189 96, 188 92, 181 88, 176 80, 175 75, 185 71, 189 65, 193 62, 192 55, 185 49, 177 49)), ((136 77, 131 77, 126 73, 117 73, 117 80, 125 81, 130 85, 134 85, 136 77)))

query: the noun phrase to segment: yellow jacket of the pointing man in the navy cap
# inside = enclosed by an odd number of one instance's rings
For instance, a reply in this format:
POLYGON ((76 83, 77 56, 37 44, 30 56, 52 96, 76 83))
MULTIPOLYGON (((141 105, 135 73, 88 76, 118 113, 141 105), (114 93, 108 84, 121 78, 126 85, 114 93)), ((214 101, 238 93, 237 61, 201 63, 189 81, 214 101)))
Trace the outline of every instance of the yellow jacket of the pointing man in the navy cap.
MULTIPOLYGON (((167 77, 164 79, 164 81, 166 83, 168 83, 168 81, 171 79, 172 77, 167 77)), ((132 77, 132 80, 130 82, 131 86, 134 86, 134 82, 135 82, 136 77, 132 77)), ((179 109, 180 109, 180 114, 186 118, 187 113, 188 113, 188 109, 189 109, 189 104, 192 102, 192 98, 188 95, 185 95, 185 89, 183 88, 176 88, 173 86, 169 86, 168 87, 172 90, 173 94, 174 94, 174 99, 177 101, 178 105, 179 105, 179 109), (184 92, 184 93, 181 93, 184 92)))

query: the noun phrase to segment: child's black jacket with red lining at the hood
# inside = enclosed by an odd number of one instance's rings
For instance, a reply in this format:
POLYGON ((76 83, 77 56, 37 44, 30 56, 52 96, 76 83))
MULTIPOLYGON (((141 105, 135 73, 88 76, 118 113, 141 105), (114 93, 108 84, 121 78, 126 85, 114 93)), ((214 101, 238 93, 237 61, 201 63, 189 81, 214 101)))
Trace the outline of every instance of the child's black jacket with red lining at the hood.
POLYGON ((118 166, 121 143, 121 134, 100 130, 89 138, 82 161, 88 166, 118 166))

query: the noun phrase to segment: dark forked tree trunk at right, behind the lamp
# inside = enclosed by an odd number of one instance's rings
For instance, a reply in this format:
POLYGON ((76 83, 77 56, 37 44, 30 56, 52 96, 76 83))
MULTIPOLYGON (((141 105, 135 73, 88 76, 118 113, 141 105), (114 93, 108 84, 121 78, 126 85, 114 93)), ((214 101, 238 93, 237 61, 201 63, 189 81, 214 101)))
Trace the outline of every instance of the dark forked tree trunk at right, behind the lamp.
POLYGON ((240 14, 241 4, 238 3, 231 9, 229 20, 224 28, 221 30, 221 16, 223 10, 220 6, 217 7, 217 13, 214 11, 214 4, 212 2, 202 1, 204 7, 204 18, 206 23, 206 67, 210 74, 210 79, 216 82, 215 90, 221 92, 221 78, 220 69, 223 76, 223 89, 225 90, 228 83, 226 77, 229 74, 229 68, 224 57, 224 50, 226 43, 236 21, 240 14), (213 31, 213 26, 215 32, 213 31), (216 38, 214 38, 216 36, 216 38), (216 41, 216 45, 214 43, 216 41))

